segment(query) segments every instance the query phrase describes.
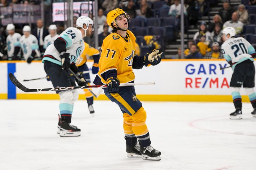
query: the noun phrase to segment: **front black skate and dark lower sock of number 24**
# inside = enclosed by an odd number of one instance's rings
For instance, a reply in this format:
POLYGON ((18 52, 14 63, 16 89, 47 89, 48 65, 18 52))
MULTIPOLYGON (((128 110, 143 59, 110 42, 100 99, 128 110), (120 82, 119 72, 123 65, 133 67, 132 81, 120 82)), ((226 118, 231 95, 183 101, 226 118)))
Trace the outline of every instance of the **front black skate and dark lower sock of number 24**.
POLYGON ((78 137, 81 135, 81 130, 71 123, 71 116, 61 116, 60 137, 78 137))

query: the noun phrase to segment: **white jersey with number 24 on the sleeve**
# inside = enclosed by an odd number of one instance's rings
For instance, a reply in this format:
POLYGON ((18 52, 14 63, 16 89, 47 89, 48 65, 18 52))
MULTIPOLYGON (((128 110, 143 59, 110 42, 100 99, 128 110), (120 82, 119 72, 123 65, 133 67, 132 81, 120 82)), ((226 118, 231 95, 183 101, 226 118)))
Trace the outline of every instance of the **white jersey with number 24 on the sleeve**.
MULTIPOLYGON (((69 27, 63 31, 58 38, 66 42, 66 52, 69 53, 70 63, 75 63, 76 59, 84 51, 84 42, 81 31, 77 28, 69 27)), ((46 48, 42 62, 44 63, 45 60, 61 65, 60 53, 55 48, 54 44, 51 44, 46 48)))

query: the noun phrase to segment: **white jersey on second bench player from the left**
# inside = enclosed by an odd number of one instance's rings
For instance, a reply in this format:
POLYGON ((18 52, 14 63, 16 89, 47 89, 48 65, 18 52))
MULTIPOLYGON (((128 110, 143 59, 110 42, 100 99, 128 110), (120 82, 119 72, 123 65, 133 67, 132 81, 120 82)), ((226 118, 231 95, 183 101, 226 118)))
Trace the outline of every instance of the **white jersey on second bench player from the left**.
POLYGON ((37 38, 32 34, 30 34, 27 38, 25 35, 22 35, 20 44, 25 60, 32 55, 32 51, 39 50, 37 38))

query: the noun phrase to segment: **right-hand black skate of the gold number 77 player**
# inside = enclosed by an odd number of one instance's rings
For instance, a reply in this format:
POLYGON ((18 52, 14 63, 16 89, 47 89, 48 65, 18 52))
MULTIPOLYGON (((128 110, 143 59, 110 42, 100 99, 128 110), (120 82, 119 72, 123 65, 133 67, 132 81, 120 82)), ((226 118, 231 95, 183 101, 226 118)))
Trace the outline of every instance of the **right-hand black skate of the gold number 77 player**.
POLYGON ((146 147, 140 146, 140 153, 143 160, 161 160, 161 152, 157 151, 151 145, 146 147))

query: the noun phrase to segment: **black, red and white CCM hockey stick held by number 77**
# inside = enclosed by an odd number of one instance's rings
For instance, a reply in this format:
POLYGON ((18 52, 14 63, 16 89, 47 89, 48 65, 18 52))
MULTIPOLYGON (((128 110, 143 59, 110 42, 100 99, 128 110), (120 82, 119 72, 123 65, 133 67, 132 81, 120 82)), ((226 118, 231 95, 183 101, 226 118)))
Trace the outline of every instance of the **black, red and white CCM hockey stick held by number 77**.
MULTIPOLYGON (((29 89, 22 85, 12 73, 9 73, 9 78, 16 87, 18 87, 23 92, 50 92, 50 91, 63 91, 63 90, 75 90, 75 89, 90 89, 90 88, 106 88, 107 85, 85 85, 85 86, 72 86, 72 87, 53 87, 53 88, 43 88, 43 89, 29 89)), ((133 86, 133 85, 155 85, 155 82, 145 82, 145 83, 122 83, 121 87, 133 86)))

